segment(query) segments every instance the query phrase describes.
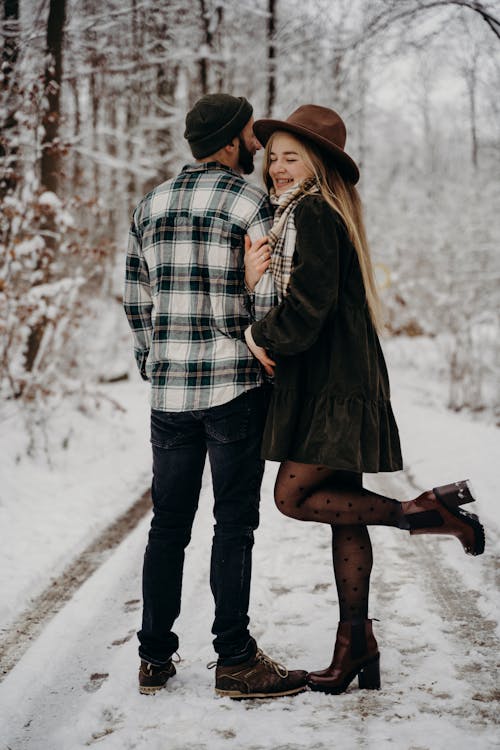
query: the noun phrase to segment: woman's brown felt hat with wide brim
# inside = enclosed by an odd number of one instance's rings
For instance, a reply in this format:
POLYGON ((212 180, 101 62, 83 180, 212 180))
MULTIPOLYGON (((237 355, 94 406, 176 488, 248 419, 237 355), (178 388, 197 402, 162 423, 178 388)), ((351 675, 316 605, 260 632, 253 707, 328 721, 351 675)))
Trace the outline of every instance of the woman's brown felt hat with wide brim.
POLYGON ((359 180, 358 167, 344 151, 344 121, 333 109, 319 107, 317 104, 303 104, 286 120, 257 120, 253 129, 263 146, 277 130, 303 136, 333 157, 337 169, 346 180, 353 184, 359 180))

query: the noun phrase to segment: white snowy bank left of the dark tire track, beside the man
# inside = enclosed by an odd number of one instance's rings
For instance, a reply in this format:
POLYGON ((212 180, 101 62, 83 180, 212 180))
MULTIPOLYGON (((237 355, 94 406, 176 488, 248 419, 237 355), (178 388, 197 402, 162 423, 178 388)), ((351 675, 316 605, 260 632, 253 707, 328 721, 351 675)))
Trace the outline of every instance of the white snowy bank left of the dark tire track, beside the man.
POLYGON ((1 631, 148 485, 147 391, 140 383, 108 390, 126 411, 103 401, 92 416, 71 411, 52 417, 50 462, 43 451, 27 455, 19 413, 13 405, 3 409, 1 631))

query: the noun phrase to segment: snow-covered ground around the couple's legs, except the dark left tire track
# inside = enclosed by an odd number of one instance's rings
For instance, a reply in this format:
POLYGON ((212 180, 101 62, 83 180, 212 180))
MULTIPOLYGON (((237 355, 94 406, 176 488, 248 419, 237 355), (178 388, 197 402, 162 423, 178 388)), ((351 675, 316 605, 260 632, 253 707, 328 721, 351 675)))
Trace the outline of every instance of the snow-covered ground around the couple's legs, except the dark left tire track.
MULTIPOLYGON (((397 358, 395 358, 397 359, 397 358)), ((483 556, 454 539, 375 528, 371 616, 382 654, 382 689, 354 682, 340 696, 304 693, 235 702, 214 697, 208 585, 212 495, 208 471, 188 549, 177 675, 156 696, 137 691, 140 575, 145 517, 50 619, 0 683, 2 750, 488 750, 499 747, 495 683, 500 621, 496 461, 500 430, 447 411, 444 386, 390 368, 406 468, 368 475, 400 499, 472 480, 486 527, 483 556)), ((147 387, 103 386, 95 414, 51 420, 50 463, 26 456, 16 407, 2 407, 0 602, 2 634, 15 618, 149 483, 147 387)), ((498 459, 497 459, 498 460, 498 459)), ((328 664, 337 621, 329 530, 275 510, 277 465, 268 463, 256 532, 252 632, 290 668, 328 664)))

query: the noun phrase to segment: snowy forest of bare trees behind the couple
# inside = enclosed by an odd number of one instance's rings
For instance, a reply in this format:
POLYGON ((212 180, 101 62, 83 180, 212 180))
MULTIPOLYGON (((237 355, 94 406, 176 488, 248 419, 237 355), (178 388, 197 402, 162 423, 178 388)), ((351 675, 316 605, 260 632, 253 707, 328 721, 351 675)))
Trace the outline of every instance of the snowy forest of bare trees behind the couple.
POLYGON ((15 402, 33 430, 61 404, 92 411, 102 384, 130 376, 121 290, 131 213, 191 160, 190 106, 226 91, 257 117, 303 103, 342 115, 385 345, 445 381, 450 409, 498 423, 497 2, 2 6, 2 408, 15 402))

